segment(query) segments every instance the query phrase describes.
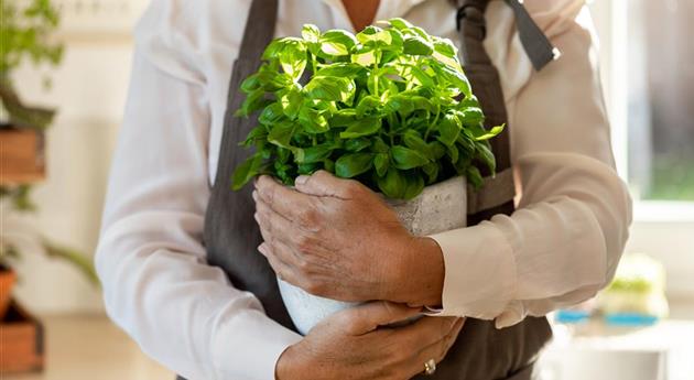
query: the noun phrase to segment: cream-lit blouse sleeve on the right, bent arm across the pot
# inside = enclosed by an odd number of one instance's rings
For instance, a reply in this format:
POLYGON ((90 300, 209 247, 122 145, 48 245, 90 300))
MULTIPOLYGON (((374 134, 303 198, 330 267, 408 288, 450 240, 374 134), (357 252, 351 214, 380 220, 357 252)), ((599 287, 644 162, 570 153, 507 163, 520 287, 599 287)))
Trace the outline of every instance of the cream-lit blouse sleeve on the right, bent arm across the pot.
POLYGON ((498 327, 595 295, 612 278, 631 222, 587 9, 583 1, 525 3, 562 56, 535 73, 527 57, 519 62, 514 33, 486 42, 507 82, 518 209, 432 237, 445 262, 441 315, 496 318, 498 327))

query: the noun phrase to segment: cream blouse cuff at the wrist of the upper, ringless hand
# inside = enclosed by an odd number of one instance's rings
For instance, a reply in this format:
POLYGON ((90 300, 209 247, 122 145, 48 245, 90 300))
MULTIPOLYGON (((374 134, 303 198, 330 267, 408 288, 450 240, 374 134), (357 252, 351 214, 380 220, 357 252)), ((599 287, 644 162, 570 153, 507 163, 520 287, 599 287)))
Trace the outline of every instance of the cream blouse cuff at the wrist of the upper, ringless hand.
POLYGON ((494 319, 516 292, 516 262, 506 237, 489 221, 430 236, 443 252, 443 305, 434 315, 494 319))

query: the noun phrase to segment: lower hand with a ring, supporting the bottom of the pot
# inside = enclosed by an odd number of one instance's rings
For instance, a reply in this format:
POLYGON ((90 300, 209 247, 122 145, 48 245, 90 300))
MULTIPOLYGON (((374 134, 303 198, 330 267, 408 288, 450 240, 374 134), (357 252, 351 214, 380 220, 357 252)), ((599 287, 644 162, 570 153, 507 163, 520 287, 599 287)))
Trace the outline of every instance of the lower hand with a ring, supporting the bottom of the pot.
POLYGON ((430 359, 443 360, 465 321, 423 317, 402 327, 382 327, 420 311, 378 301, 336 313, 280 356, 276 379, 410 379, 423 372, 430 359))

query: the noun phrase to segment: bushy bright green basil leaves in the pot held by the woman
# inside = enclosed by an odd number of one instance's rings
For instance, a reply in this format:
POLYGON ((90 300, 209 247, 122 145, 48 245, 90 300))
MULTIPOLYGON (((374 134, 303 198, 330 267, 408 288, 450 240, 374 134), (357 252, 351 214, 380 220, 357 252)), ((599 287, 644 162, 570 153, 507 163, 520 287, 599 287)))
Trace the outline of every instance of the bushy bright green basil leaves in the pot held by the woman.
POLYGON ((503 127, 484 128, 455 45, 402 19, 384 24, 357 35, 304 25, 302 39, 270 43, 241 84, 237 116, 259 112, 259 124, 234 189, 259 174, 292 185, 326 170, 410 199, 456 175, 479 185, 476 165, 494 172, 487 140, 503 127))

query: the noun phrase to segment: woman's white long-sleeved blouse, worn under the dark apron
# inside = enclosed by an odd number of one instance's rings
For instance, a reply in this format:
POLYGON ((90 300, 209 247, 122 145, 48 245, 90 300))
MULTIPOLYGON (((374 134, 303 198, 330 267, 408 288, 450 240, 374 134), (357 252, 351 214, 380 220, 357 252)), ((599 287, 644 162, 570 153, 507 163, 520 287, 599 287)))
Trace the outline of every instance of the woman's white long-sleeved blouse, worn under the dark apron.
MULTIPOLYGON (((231 63, 251 0, 153 0, 135 30, 128 105, 96 257, 109 315, 189 380, 273 379, 301 339, 206 264, 203 220, 215 177, 231 63)), ((513 325, 593 296, 612 276, 631 204, 615 172, 590 18, 582 0, 525 0, 562 52, 532 69, 502 1, 485 42, 509 113, 519 209, 440 234, 442 314, 513 325)), ((447 0, 381 0, 457 41, 447 0)), ((276 35, 304 23, 351 30, 339 0, 280 1, 276 35)))

